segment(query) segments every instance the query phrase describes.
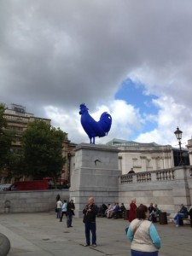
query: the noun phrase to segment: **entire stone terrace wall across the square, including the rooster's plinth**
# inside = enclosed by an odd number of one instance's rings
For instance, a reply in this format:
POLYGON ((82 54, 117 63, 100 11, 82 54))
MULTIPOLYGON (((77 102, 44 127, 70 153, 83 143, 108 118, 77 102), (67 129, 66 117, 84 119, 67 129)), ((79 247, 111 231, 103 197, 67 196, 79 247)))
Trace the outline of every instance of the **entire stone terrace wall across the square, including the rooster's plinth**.
POLYGON ((131 198, 149 205, 157 203, 161 211, 177 212, 181 203, 192 205, 192 166, 178 166, 151 172, 121 175, 118 150, 103 145, 79 144, 75 150, 71 188, 41 191, 0 192, 1 212, 46 212, 55 209, 55 197, 73 199, 75 216, 81 217, 90 196, 96 204, 124 202, 131 198))

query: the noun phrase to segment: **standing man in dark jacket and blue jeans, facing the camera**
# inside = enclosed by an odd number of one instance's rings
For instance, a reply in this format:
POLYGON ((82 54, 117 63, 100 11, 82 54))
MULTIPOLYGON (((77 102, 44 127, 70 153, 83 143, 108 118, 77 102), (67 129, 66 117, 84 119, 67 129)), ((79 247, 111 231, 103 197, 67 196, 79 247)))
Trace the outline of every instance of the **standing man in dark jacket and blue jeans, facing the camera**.
POLYGON ((86 243, 84 247, 90 246, 90 232, 92 234, 92 246, 96 247, 96 214, 98 209, 94 204, 94 198, 90 197, 88 200, 88 205, 84 207, 84 229, 85 229, 85 238, 86 243))

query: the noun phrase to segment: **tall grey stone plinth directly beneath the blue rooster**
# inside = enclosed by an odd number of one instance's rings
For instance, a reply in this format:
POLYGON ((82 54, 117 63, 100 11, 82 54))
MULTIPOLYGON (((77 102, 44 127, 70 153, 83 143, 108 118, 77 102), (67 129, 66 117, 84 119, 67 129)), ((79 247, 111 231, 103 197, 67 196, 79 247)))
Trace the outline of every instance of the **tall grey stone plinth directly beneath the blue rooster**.
POLYGON ((86 143, 75 148, 70 198, 75 203, 76 217, 83 215, 90 196, 95 198, 97 206, 118 201, 121 175, 118 152, 117 148, 86 143))

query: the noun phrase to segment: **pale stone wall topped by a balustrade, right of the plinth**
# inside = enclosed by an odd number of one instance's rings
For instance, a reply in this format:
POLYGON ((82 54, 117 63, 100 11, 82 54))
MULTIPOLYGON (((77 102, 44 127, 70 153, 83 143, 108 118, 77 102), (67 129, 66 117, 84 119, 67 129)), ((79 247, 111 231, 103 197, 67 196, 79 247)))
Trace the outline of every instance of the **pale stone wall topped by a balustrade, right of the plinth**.
POLYGON ((119 177, 119 202, 129 208, 131 198, 137 206, 157 203, 162 211, 177 212, 181 203, 192 205, 192 166, 179 166, 119 177))

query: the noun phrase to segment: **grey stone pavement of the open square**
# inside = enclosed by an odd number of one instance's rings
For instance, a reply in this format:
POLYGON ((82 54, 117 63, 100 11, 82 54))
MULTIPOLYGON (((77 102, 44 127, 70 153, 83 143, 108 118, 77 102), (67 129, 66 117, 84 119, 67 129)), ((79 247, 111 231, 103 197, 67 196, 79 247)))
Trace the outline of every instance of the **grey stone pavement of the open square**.
MULTIPOLYGON (((122 218, 96 218, 97 247, 84 247, 82 218, 73 218, 67 228, 55 212, 5 213, 0 215, 0 233, 11 243, 9 256, 130 256, 131 242, 125 235, 128 221, 122 218)), ((191 256, 192 228, 185 224, 155 224, 161 238, 159 256, 191 256)), ((1 254, 1 253, 0 253, 1 254)))

